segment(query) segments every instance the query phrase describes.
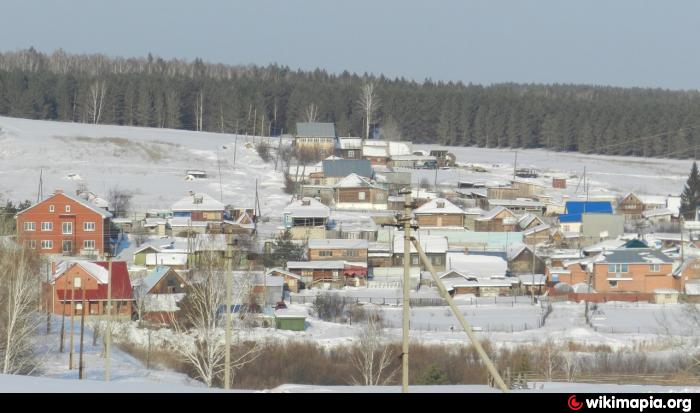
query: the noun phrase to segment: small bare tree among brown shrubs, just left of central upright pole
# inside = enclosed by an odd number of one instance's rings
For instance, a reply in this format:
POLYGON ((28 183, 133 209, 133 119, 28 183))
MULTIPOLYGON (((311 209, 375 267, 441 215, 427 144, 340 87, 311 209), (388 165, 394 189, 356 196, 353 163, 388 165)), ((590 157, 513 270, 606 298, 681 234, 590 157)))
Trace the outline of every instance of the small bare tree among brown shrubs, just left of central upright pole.
POLYGON ((396 355, 391 344, 387 343, 383 336, 381 317, 376 312, 370 312, 366 324, 362 327, 358 347, 350 358, 357 370, 357 375, 352 377, 353 384, 382 386, 393 380, 400 366, 392 366, 396 355))

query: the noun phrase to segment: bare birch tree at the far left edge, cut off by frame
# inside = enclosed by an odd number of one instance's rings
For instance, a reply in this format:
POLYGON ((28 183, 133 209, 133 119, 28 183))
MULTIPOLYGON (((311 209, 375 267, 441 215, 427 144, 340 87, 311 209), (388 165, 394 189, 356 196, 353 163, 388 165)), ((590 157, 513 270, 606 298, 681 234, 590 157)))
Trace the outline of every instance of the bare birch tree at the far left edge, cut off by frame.
POLYGON ((24 247, 0 246, 0 356, 3 374, 34 369, 31 336, 39 328, 39 257, 24 247))

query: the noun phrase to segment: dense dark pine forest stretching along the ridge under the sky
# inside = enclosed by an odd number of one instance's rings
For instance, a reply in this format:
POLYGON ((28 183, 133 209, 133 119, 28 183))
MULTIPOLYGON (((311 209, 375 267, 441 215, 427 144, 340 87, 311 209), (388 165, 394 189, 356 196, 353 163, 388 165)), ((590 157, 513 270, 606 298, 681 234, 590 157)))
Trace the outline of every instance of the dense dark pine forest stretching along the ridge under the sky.
POLYGON ((0 114, 248 134, 304 120, 413 142, 687 158, 700 148, 700 92, 586 85, 422 82, 270 65, 0 53, 0 114), (366 102, 365 102, 366 104, 366 102), (390 126, 389 126, 390 125, 390 126))

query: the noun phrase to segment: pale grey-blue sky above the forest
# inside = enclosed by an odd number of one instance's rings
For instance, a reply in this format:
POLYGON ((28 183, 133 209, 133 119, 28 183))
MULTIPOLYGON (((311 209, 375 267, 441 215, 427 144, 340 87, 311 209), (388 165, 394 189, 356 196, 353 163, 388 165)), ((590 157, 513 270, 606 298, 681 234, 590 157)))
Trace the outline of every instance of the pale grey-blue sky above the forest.
POLYGON ((0 50, 700 89, 700 1, 0 0, 0 50))

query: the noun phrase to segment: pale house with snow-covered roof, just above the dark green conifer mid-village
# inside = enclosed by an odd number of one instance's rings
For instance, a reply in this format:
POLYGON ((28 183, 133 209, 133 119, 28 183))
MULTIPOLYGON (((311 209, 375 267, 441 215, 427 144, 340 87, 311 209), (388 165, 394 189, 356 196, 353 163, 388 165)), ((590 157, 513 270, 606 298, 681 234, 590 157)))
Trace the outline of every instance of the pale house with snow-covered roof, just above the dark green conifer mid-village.
POLYGON ((282 221, 293 239, 323 239, 326 238, 326 225, 330 215, 330 208, 313 198, 304 197, 284 208, 282 221))

